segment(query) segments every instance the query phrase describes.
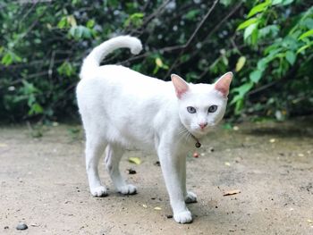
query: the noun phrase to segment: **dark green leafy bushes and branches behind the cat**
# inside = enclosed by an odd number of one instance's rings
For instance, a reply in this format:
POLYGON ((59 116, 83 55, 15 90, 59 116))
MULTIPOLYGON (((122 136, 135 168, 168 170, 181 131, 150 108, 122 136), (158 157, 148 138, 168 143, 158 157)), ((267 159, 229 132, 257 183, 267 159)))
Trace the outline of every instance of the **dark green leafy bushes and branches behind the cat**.
POLYGON ((169 80, 214 82, 234 72, 227 116, 276 119, 311 113, 313 7, 309 0, 0 2, 0 120, 77 119, 84 56, 117 35, 139 37, 121 63, 169 80))

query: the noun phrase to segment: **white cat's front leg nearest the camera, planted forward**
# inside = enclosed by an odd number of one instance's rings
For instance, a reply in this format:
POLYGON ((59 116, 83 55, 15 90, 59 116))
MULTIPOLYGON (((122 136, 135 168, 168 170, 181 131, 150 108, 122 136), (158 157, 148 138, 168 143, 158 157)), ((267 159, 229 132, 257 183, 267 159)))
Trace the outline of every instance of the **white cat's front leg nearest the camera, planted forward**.
POLYGON ((185 161, 185 159, 181 159, 180 155, 174 154, 170 148, 161 144, 157 152, 173 209, 173 219, 180 223, 192 222, 192 215, 185 203, 186 189, 185 186, 182 186, 183 169, 181 168, 181 161, 185 161))

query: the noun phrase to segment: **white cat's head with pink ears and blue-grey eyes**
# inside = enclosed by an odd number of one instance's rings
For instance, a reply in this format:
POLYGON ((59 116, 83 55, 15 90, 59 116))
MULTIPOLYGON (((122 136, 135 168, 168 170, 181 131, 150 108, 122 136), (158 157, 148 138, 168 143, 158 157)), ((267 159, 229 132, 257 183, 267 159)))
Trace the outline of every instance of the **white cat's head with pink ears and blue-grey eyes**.
POLYGON ((173 87, 184 127, 201 138, 224 116, 233 73, 227 72, 214 84, 190 84, 172 74, 173 87))

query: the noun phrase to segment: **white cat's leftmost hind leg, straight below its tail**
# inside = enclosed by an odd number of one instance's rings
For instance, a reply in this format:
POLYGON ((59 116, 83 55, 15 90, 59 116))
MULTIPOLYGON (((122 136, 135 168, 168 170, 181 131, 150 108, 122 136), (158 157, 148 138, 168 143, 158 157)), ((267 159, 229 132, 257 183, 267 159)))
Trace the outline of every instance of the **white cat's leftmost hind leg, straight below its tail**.
POLYGON ((86 135, 86 171, 90 193, 95 197, 106 197, 107 195, 107 189, 101 184, 97 167, 105 148, 106 142, 103 138, 86 135))

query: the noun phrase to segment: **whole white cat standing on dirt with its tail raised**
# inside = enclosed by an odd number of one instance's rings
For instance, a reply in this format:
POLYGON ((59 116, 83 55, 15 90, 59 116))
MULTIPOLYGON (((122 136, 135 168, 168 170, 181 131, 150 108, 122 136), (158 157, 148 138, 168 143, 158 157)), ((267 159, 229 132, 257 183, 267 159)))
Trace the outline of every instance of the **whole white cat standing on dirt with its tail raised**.
POLYGON ((86 132, 86 168, 90 192, 106 196, 97 165, 106 150, 106 169, 114 187, 134 194, 119 170, 124 149, 156 151, 168 191, 173 219, 191 222, 186 203, 197 196, 186 189, 186 155, 225 112, 233 77, 227 72, 215 84, 191 84, 172 74, 172 81, 157 80, 121 65, 99 66, 117 48, 139 54, 138 38, 121 36, 97 46, 84 60, 77 99, 86 132))

